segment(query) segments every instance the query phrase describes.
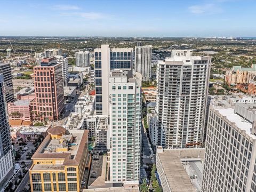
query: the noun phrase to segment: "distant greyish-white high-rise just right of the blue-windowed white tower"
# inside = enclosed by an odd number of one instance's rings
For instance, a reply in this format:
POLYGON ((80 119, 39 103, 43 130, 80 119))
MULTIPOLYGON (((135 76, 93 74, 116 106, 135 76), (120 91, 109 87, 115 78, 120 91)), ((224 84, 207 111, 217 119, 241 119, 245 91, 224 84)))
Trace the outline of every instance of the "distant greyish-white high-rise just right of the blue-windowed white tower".
POLYGON ((143 81, 151 81, 152 46, 135 47, 135 71, 141 73, 143 81))

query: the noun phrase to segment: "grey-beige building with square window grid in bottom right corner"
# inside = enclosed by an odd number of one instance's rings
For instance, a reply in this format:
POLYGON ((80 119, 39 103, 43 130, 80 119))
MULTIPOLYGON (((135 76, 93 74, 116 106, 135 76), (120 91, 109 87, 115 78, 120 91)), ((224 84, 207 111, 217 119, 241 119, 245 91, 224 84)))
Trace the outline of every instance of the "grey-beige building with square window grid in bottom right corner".
POLYGON ((256 191, 255 108, 210 106, 202 191, 256 191))

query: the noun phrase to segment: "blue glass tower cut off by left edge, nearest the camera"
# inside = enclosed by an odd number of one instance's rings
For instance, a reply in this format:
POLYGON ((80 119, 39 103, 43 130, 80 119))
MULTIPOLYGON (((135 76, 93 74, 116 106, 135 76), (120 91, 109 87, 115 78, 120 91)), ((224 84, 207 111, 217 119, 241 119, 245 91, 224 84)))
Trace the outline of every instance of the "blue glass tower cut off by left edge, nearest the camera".
POLYGON ((13 174, 14 157, 11 143, 11 133, 7 118, 6 102, 4 97, 4 77, 0 74, 0 190, 13 174))

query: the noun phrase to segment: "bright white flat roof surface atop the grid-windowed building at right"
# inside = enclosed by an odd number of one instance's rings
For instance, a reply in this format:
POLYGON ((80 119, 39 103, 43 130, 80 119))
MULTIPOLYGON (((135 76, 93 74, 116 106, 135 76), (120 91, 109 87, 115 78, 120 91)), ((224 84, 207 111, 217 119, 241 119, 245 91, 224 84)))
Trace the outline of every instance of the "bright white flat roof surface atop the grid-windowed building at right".
POLYGON ((242 116, 236 114, 234 112, 234 108, 214 108, 217 110, 222 116, 225 116, 228 121, 231 123, 235 123, 235 125, 246 132, 246 134, 250 135, 251 138, 256 139, 256 135, 251 134, 252 123, 247 121, 242 116))

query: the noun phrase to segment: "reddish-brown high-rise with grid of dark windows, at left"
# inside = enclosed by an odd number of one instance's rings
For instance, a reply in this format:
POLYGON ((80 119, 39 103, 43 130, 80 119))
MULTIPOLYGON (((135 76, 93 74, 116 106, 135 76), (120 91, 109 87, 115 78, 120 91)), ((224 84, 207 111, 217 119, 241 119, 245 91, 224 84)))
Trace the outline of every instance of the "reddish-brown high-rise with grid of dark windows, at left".
POLYGON ((45 58, 34 67, 36 106, 33 118, 40 121, 59 119, 65 109, 61 65, 54 58, 45 58))

